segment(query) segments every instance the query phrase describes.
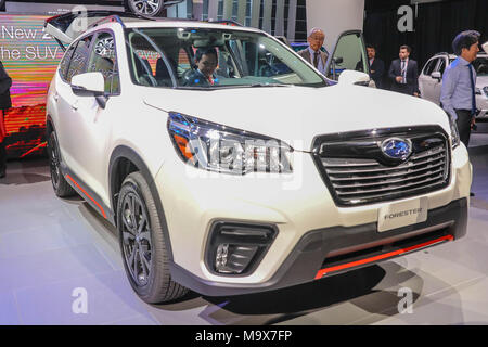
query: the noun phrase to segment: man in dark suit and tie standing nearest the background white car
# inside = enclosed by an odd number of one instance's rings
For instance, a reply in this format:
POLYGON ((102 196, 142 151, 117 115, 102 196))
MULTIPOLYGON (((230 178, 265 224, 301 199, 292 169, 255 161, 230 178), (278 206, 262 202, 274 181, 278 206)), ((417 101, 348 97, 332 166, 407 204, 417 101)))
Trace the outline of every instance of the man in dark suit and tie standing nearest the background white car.
POLYGON ((416 62, 410 59, 411 52, 410 47, 400 47, 399 59, 391 62, 388 77, 393 91, 419 97, 419 68, 416 62))

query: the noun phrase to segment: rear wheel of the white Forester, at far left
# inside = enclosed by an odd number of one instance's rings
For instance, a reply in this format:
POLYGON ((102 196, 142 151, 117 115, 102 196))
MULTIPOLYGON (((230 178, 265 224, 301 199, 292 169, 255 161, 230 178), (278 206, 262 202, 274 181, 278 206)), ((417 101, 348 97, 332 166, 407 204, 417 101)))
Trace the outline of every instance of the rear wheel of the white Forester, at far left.
POLYGON ((76 191, 61 171, 61 152, 57 144, 57 137, 55 131, 52 131, 48 138, 48 155, 49 155, 49 168, 51 172, 51 183, 54 189, 54 193, 59 197, 67 197, 76 194, 76 191))

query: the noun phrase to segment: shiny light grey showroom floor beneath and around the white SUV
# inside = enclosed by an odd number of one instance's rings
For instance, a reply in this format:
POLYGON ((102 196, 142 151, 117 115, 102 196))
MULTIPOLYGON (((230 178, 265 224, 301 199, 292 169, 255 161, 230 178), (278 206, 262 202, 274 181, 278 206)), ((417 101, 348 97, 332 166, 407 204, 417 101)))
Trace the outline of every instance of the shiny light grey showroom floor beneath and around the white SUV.
POLYGON ((153 306, 127 282, 114 228, 81 200, 56 198, 44 162, 9 163, 0 324, 488 324, 488 134, 470 152, 476 196, 463 240, 282 291, 153 306), (80 288, 87 313, 74 313, 80 288), (411 313, 400 313, 404 288, 411 313))

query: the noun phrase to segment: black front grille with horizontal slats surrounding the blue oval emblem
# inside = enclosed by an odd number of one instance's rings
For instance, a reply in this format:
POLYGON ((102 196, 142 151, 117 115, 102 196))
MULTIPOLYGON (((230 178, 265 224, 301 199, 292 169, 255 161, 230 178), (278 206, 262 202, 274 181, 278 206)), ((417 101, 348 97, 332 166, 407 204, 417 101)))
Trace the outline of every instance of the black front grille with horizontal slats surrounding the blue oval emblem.
POLYGON ((432 192, 449 183, 448 137, 439 127, 388 129, 321 137, 314 158, 336 203, 356 206, 432 192), (400 164, 388 162, 381 143, 408 139, 412 154, 400 164))

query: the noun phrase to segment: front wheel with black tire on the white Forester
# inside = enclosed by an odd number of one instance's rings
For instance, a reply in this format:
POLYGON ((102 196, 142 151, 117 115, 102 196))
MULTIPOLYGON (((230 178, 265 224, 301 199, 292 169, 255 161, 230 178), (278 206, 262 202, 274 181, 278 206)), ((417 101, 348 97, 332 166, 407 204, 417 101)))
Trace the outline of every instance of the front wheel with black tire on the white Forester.
POLYGON ((119 245, 130 285, 147 304, 171 301, 188 293, 171 280, 163 228, 147 182, 140 172, 130 174, 117 202, 119 245))

